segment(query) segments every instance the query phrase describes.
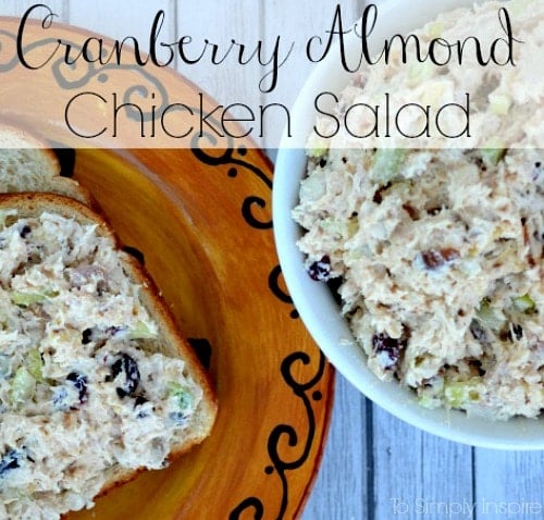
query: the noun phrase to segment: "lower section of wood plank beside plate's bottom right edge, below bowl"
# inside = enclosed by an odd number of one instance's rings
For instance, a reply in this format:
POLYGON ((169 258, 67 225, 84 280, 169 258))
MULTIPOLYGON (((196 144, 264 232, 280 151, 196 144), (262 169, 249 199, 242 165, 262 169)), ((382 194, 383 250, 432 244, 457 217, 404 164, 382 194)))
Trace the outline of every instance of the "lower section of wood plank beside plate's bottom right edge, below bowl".
POLYGON ((368 438, 366 399, 339 374, 323 461, 302 518, 362 519, 367 508, 368 438))

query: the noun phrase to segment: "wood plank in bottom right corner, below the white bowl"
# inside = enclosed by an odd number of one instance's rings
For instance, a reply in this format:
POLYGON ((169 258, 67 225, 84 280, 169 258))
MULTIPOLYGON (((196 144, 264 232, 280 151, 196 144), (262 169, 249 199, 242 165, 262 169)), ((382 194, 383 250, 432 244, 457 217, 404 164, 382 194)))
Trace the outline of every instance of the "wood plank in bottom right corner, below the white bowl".
POLYGON ((544 451, 475 449, 479 518, 544 518, 544 451))

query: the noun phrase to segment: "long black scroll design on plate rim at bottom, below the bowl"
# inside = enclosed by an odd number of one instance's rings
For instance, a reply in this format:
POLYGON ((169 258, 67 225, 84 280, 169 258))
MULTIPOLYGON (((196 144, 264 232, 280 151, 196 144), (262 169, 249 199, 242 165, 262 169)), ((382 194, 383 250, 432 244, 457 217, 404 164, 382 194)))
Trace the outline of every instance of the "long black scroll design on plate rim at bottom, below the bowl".
MULTIPOLYGON (((313 412, 313 403, 320 401, 323 398, 322 393, 317 389, 317 385, 321 381, 325 370, 325 358, 323 354, 319 354, 319 367, 317 372, 307 381, 299 381, 296 376, 296 367, 299 363, 308 366, 311 363, 311 358, 307 352, 296 351, 288 355, 282 362, 281 373, 284 382, 289 386, 298 397, 305 408, 306 418, 308 421, 308 433, 306 438, 299 438, 296 429, 290 424, 279 424, 275 426, 268 437, 268 455, 270 465, 264 468, 268 475, 276 475, 282 486, 282 498, 275 517, 277 520, 285 518, 289 499, 289 487, 287 472, 300 468, 309 458, 311 447, 316 439, 316 416, 313 412), (293 459, 282 457, 280 454, 284 443, 289 448, 299 448, 298 454, 293 459)), ((283 447, 285 450, 285 447, 283 447)), ((230 513, 228 520, 237 520, 245 511, 252 510, 255 520, 260 520, 264 513, 263 502, 250 496, 242 500, 230 513)))

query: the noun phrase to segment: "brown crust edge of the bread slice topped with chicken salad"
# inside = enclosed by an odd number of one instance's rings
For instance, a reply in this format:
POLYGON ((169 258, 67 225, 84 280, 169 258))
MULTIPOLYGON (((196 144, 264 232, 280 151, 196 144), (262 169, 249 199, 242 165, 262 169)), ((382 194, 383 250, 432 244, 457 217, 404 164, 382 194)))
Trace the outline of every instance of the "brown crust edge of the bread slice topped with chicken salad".
MULTIPOLYGON (((202 369, 194 350, 181 334, 174 317, 160 297, 159 290, 145 268, 129 253, 121 249, 121 243, 114 234, 106 216, 88 208, 84 203, 69 197, 55 194, 3 194, 0 195, 0 210, 16 209, 18 216, 39 216, 44 212, 59 214, 64 218, 74 219, 81 224, 95 224, 97 233, 111 240, 116 249, 125 272, 132 282, 140 285, 141 302, 148 309, 150 315, 159 326, 159 335, 164 337, 164 349, 162 354, 183 359, 186 372, 202 388, 203 396, 195 411, 198 420, 186 430, 186 436, 182 443, 171 447, 168 459, 175 460, 193 446, 202 442, 211 432, 213 426, 218 403, 208 373, 202 369)), ((145 349, 145 347, 143 347, 145 349)), ((107 494, 110 490, 118 487, 135 479, 144 469, 126 470, 114 466, 108 470, 107 481, 98 496, 107 494)))

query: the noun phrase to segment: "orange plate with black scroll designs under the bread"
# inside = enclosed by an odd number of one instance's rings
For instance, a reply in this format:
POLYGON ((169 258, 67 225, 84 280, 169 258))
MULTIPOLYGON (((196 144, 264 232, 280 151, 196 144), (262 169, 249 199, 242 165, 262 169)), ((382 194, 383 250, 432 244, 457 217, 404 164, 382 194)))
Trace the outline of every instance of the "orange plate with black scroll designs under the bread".
MULTIPOLYGON (((5 49, 16 25, 4 21, 2 29, 5 49)), ((55 37, 81 41, 82 34, 61 27, 55 37)), ((33 90, 52 92, 62 107, 74 95, 50 71, 32 76, 32 85, 29 74, 4 67, 0 96, 26 91, 30 100, 33 90)), ((126 90, 134 74, 110 69, 106 83, 126 90)), ((154 74, 161 91, 196 91, 170 70, 154 74)), ((88 82, 95 79, 88 74, 88 82)), ((77 88, 91 87, 83 82, 77 88)), ((4 107, 11 119, 63 139, 62 110, 4 107)), ((195 145, 76 152, 75 178, 98 199, 122 242, 144 252, 182 331, 198 339, 199 354, 211 354, 220 412, 202 445, 70 519, 290 519, 316 476, 334 377, 283 286, 271 228, 271 164, 249 143, 214 150, 195 145)))

